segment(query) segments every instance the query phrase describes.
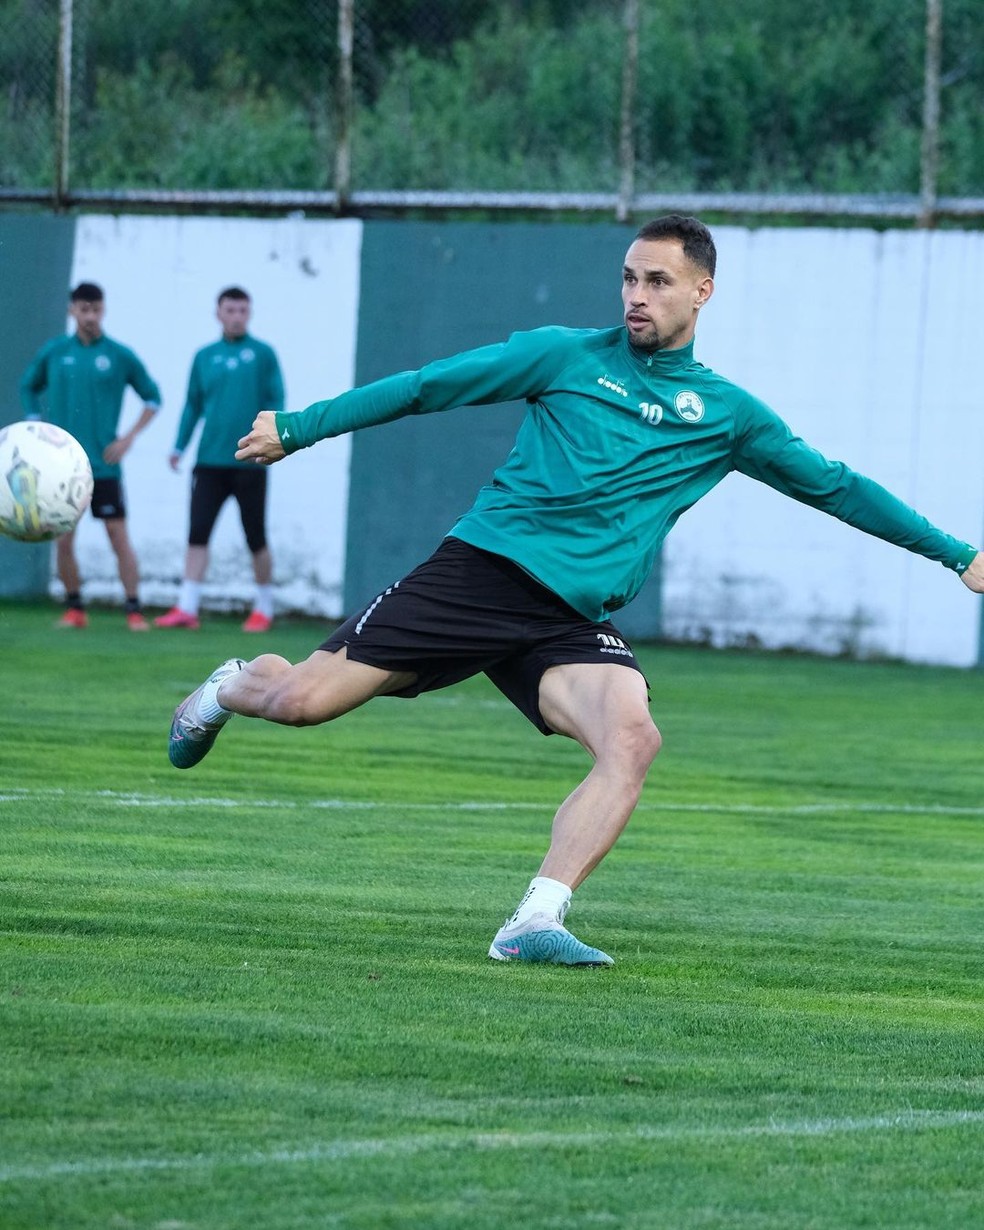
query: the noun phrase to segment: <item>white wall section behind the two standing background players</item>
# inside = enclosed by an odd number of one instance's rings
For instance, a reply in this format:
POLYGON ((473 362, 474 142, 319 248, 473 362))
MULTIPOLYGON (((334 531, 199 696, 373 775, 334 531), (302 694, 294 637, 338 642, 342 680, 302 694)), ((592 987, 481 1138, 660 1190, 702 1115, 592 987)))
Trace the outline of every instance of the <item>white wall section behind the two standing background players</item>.
MULTIPOLYGON (((161 385, 164 408, 124 462, 130 533, 146 603, 177 597, 188 531, 188 483, 167 465, 194 352, 219 337, 215 296, 239 284, 253 300, 251 332, 278 353, 289 410, 351 387, 355 363, 362 224, 82 216, 73 285, 106 290, 106 332, 133 347, 161 385)), ((127 394, 123 424, 139 413, 127 394)), ((321 444, 269 472, 268 535, 280 609, 337 614, 348 506, 349 440, 321 444)), ((79 555, 90 598, 122 598, 106 533, 86 517, 79 555)), ((55 587, 58 592, 59 587, 55 587)), ((212 540, 204 604, 248 603, 250 556, 232 502, 212 540)))

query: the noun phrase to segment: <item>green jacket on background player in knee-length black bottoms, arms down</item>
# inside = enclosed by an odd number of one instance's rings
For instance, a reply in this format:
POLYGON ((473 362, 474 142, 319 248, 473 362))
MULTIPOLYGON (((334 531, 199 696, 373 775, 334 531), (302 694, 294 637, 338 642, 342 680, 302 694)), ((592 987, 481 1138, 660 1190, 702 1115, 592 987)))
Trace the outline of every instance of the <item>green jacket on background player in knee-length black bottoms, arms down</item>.
POLYGON ((246 333, 205 346, 192 359, 188 395, 175 453, 183 453, 199 419, 198 465, 247 466, 236 461, 239 442, 261 410, 283 410, 284 383, 272 346, 246 333))

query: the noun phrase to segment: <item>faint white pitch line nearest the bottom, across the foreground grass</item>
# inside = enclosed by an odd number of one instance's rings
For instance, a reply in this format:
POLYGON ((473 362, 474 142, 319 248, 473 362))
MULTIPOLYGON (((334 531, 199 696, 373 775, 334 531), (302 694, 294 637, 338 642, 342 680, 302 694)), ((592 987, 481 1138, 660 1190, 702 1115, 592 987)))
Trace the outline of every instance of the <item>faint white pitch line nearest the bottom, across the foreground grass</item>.
POLYGON ((755 1137, 834 1137, 866 1132, 930 1132, 938 1128, 975 1127, 984 1111, 899 1111, 865 1118, 803 1119, 784 1123, 750 1123, 745 1127, 638 1127, 626 1132, 476 1132, 461 1137, 423 1134, 383 1140, 333 1140, 304 1149, 252 1150, 241 1154, 192 1154, 184 1157, 91 1157, 39 1166, 0 1166, 0 1183, 46 1178, 90 1178, 96 1175, 212 1170, 216 1166, 287 1166, 305 1162, 347 1161, 358 1157, 451 1153, 462 1149, 584 1149, 631 1145, 645 1141, 685 1144, 691 1140, 740 1140, 755 1137))

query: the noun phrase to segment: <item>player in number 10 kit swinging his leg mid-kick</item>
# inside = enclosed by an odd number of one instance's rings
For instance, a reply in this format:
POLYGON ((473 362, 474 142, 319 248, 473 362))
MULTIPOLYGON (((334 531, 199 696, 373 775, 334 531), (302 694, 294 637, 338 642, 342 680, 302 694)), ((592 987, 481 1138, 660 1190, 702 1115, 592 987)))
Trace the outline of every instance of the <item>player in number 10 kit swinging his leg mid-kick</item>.
POLYGON ((295 415, 260 415, 237 456, 268 465, 403 415, 519 397, 529 406, 512 453, 429 560, 306 661, 223 663, 176 710, 171 763, 197 764, 234 713, 311 726, 374 696, 416 696, 485 672, 542 733, 576 739, 593 760, 488 954, 611 964, 566 930, 565 913, 629 820, 659 749, 646 681, 609 615, 638 592, 676 518, 738 470, 984 592, 975 547, 827 460, 694 360, 715 263, 706 226, 659 218, 626 253, 617 328, 515 333, 295 415))

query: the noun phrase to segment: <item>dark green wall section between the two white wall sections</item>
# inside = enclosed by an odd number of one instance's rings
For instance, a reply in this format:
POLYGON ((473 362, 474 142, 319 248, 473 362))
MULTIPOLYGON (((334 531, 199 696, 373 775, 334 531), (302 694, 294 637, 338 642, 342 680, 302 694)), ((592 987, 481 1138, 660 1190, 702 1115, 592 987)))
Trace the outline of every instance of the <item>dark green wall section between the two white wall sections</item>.
MULTIPOLYGON (((367 223, 355 380, 423 365, 541 325, 609 327, 632 229, 611 224, 367 223)), ((357 432, 344 606, 428 556, 512 446, 524 406, 471 407, 357 432)), ((656 636, 653 577, 616 622, 656 636)))

